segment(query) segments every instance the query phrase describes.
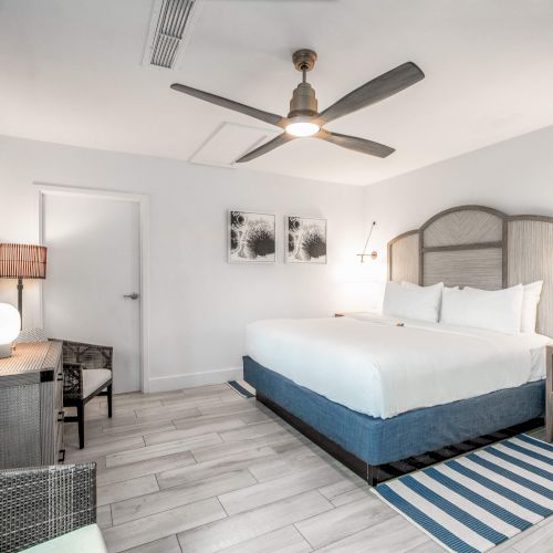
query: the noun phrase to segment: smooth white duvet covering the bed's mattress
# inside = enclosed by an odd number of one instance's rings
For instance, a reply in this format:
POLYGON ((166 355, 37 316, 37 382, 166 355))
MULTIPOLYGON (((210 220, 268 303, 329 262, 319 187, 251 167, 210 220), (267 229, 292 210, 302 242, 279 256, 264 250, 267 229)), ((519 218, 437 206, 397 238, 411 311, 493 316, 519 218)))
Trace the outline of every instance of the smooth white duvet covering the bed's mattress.
POLYGON ((353 410, 389 418, 543 377, 544 336, 380 315, 258 321, 247 354, 353 410))

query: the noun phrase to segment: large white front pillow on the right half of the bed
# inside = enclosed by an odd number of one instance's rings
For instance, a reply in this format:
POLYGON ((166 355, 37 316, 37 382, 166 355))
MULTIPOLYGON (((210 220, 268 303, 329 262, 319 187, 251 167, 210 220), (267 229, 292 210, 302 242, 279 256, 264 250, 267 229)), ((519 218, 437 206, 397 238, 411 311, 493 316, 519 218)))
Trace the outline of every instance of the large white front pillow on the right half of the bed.
POLYGON ((522 284, 505 290, 444 290, 441 319, 445 324, 519 334, 522 284))

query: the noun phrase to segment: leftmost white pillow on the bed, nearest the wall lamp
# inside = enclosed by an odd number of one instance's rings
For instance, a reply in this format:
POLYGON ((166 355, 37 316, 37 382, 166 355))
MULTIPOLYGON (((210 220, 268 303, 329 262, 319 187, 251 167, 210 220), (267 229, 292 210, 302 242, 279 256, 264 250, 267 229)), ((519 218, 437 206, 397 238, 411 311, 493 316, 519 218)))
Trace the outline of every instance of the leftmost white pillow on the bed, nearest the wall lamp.
POLYGON ((442 289, 441 282, 434 286, 416 284, 406 286, 399 282, 387 282, 383 313, 437 323, 440 315, 442 289))

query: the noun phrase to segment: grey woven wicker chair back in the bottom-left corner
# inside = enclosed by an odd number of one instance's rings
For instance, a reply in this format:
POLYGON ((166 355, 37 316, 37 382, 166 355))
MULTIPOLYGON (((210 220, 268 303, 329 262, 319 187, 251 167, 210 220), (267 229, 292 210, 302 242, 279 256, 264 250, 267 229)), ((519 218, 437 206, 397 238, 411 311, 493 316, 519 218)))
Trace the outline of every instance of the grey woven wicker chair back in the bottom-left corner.
POLYGON ((0 552, 21 551, 96 522, 96 465, 0 470, 0 552))

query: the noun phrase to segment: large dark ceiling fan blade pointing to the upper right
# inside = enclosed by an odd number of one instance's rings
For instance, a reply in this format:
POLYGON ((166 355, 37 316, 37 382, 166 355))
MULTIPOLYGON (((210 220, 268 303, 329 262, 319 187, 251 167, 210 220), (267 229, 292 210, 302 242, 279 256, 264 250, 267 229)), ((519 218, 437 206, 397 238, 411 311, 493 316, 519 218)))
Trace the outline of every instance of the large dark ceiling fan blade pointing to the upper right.
POLYGON ((404 63, 346 94, 321 113, 320 117, 326 123, 337 119, 397 94, 422 79, 425 79, 425 74, 415 63, 404 63))

